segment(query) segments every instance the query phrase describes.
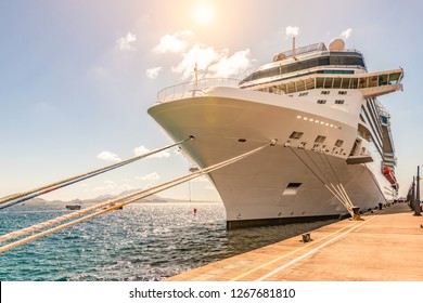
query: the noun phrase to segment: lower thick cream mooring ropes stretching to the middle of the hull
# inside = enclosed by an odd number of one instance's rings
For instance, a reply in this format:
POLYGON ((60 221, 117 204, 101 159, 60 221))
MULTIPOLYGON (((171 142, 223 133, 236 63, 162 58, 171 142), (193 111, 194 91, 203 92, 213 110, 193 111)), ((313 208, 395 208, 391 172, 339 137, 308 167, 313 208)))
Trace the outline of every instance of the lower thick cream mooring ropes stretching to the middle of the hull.
POLYGON ((270 144, 266 144, 266 145, 262 145, 258 148, 255 148, 251 152, 247 152, 245 154, 242 154, 240 156, 236 156, 236 157, 233 157, 229 160, 225 160, 225 161, 221 161, 217 164, 213 164, 213 166, 209 166, 207 168, 204 168, 204 169, 200 169, 193 173, 190 173, 190 174, 187 174, 184 176, 181 176, 181 177, 177 177, 175 180, 171 180, 171 181, 168 181, 166 183, 163 183, 163 184, 159 184, 157 186, 154 186, 154 187, 151 187, 151 188, 148 188, 148 189, 142 189, 142 190, 139 190, 137 193, 133 193, 133 194, 130 194, 130 195, 127 195, 127 196, 124 196, 124 197, 120 197, 120 198, 117 198, 117 199, 113 199, 113 200, 110 200, 110 201, 106 201, 106 202, 102 202, 102 203, 99 203, 97 206, 93 206, 91 208, 88 208, 88 209, 85 209, 85 210, 81 210, 81 211, 78 211, 78 212, 75 212, 75 213, 72 213, 72 214, 68 214, 68 215, 63 215, 63 216, 59 216, 56 219, 53 219, 53 220, 49 220, 47 222, 43 222, 43 223, 39 223, 39 224, 36 224, 36 225, 33 225, 30 227, 27 227, 27 228, 23 228, 23 229, 20 229, 20 230, 16 230, 16 232, 13 232, 13 233, 10 233, 10 234, 7 234, 7 235, 3 235, 0 237, 0 242, 2 241, 5 241, 5 240, 10 240, 10 239, 13 239, 13 238, 16 238, 16 237, 20 237, 20 236, 23 236, 23 235, 26 235, 28 233, 33 233, 35 230, 38 230, 38 229, 41 229, 41 228, 44 228, 47 226, 51 226, 51 225, 54 225, 54 224, 57 224, 60 222, 63 222, 63 221, 66 221, 66 220, 69 220, 72 218, 75 218, 75 216, 78 216, 78 215, 82 215, 82 214, 86 214, 88 212, 91 212, 93 210, 97 210, 99 208, 104 208, 104 207, 107 207, 106 209, 103 209, 99 212, 95 212, 95 213, 91 213, 91 214, 88 214, 86 216, 82 216, 82 218, 79 218, 79 219, 76 219, 74 221, 70 221, 70 222, 67 222, 67 223, 64 223, 62 225, 59 225, 59 226, 55 226, 55 227, 52 227, 50 229, 47 229, 44 232, 41 232, 39 234, 36 234, 36 235, 33 235, 33 236, 29 236, 29 237, 26 237, 26 238, 23 238, 21 240, 17 240, 17 241, 14 241, 12 243, 9 243, 9 245, 5 245, 5 246, 2 246, 0 247, 0 252, 5 252, 8 250, 11 250, 13 248, 16 248, 18 246, 22 246, 22 245, 25 245, 27 242, 30 242, 30 241, 34 241, 36 239, 39 239, 41 237, 44 237, 47 235, 50 235, 50 234, 53 234, 55 232, 59 232, 61 229, 64 229, 66 227, 69 227, 72 225, 75 225, 77 223, 80 223, 80 222, 84 222, 84 221, 87 221, 87 220, 90 220, 90 219, 93 219, 95 216, 99 216, 101 214, 104 214, 106 212, 110 212, 112 210, 116 210, 116 209, 119 209, 124 206, 127 206, 129 203, 132 203, 134 201, 138 201, 140 199, 143 199, 143 198, 146 198, 151 195, 154 195, 154 194, 157 194, 159 192, 163 192, 165 189, 168 189, 168 188, 171 188, 174 186, 177 186, 179 184, 182 184, 184 182, 188 182, 192 179, 195 179, 195 177, 198 177, 201 175, 204 175, 206 173, 209 173, 214 170, 218 170, 220 168, 223 168, 226 166, 229 166, 231 163, 234 163, 236 161, 240 161, 253 154, 256 154, 258 152, 260 152, 261 149, 264 149, 265 147, 269 146, 269 145, 274 145, 275 142, 272 141, 270 144), (124 201, 124 202, 120 202, 120 203, 116 203, 118 201, 123 201, 123 200, 126 200, 126 199, 129 199, 127 201, 124 201))

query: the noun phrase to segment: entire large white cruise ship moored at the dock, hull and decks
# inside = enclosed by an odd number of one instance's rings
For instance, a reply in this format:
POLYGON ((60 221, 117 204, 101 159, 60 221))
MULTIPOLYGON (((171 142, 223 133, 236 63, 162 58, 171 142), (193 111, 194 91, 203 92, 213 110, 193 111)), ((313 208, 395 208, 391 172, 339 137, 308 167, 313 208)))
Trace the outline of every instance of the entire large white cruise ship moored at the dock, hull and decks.
POLYGON ((278 53, 243 80, 200 79, 157 93, 149 114, 210 172, 227 227, 359 215, 397 198, 390 116, 377 97, 403 70, 368 71, 342 39, 278 53))

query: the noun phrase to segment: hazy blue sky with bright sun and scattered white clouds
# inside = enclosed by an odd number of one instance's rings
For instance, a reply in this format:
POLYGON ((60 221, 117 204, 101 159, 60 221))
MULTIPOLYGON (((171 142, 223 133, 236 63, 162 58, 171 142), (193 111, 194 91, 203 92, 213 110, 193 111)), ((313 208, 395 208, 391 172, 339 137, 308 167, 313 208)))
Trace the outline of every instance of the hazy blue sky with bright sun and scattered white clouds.
MULTIPOLYGON (((419 0, 2 0, 0 197, 171 143, 146 114, 166 87, 242 79, 273 55, 343 38, 369 71, 402 67, 403 92, 379 97, 392 115, 396 175, 406 195, 423 164, 423 4, 419 0)), ((88 199, 188 173, 176 150, 43 196, 88 199)), ((206 180, 162 197, 220 200, 206 180)))

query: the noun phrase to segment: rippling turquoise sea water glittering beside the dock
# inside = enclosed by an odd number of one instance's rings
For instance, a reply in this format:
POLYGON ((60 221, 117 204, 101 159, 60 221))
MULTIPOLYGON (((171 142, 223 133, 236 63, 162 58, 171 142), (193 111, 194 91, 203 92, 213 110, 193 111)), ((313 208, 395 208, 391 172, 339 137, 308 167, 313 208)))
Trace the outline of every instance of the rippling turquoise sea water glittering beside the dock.
MULTIPOLYGON (((0 235, 67 212, 64 206, 2 210, 0 235)), ((328 223, 227 230, 220 203, 127 206, 0 253, 0 280, 162 280, 328 223)))

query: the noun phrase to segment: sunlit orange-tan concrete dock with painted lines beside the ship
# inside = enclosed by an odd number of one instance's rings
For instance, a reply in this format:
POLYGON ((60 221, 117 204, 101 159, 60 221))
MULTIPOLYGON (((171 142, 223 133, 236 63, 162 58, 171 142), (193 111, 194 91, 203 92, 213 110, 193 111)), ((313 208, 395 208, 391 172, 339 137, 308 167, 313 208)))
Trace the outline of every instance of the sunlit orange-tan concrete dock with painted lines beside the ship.
POLYGON ((170 281, 423 281, 423 216, 406 203, 346 219, 170 281))

